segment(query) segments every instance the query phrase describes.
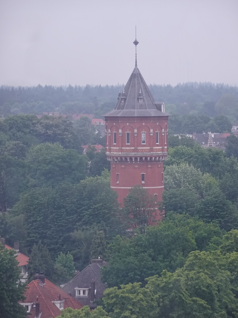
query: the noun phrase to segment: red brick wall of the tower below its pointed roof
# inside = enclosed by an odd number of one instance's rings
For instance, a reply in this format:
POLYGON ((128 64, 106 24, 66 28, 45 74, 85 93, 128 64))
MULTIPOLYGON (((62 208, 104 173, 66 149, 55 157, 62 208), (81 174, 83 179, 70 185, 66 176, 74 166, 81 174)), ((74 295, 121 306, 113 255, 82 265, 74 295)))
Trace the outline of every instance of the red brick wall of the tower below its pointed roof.
POLYGON ((168 117, 105 116, 105 121, 111 187, 118 193, 118 202, 123 205, 129 189, 138 184, 156 194, 160 201, 163 160, 168 154, 168 117))

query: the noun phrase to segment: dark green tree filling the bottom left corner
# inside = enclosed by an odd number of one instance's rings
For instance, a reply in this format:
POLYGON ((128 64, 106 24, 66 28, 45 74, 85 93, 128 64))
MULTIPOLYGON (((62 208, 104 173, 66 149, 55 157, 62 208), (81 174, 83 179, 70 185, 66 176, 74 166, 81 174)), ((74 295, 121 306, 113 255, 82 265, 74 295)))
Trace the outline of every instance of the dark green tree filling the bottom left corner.
POLYGON ((7 250, 0 244, 0 317, 26 316, 26 308, 18 303, 24 300, 24 290, 15 250, 7 250))

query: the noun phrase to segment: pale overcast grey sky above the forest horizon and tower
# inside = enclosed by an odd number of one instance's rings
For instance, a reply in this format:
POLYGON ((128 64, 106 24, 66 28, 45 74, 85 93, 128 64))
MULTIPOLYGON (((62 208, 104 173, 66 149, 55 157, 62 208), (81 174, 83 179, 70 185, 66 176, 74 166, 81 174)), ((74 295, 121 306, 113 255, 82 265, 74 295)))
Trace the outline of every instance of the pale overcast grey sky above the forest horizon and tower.
POLYGON ((0 0, 0 85, 238 84, 238 0, 0 0))

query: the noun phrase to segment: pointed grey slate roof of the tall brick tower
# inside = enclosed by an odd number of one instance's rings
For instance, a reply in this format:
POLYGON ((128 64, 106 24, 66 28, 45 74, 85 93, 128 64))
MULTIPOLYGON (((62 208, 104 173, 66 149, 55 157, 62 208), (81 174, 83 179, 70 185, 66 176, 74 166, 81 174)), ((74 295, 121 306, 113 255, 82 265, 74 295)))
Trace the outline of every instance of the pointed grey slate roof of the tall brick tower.
POLYGON ((149 87, 136 66, 113 110, 103 116, 169 116, 159 109, 162 103, 155 102, 149 87), (139 103, 142 97, 142 103, 139 103), (160 107, 159 107, 160 105, 160 107))

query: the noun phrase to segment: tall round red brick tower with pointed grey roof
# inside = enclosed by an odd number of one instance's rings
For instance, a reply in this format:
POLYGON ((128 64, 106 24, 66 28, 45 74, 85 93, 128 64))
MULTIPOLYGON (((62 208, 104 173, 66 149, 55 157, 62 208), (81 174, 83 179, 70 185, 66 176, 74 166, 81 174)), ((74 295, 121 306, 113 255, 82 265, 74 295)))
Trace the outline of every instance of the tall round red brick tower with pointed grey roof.
POLYGON ((118 193, 119 204, 123 205, 124 197, 135 185, 148 189, 155 201, 160 201, 164 189, 163 160, 168 154, 169 115, 164 112, 164 103, 155 102, 137 61, 115 108, 104 116, 111 188, 118 193))

